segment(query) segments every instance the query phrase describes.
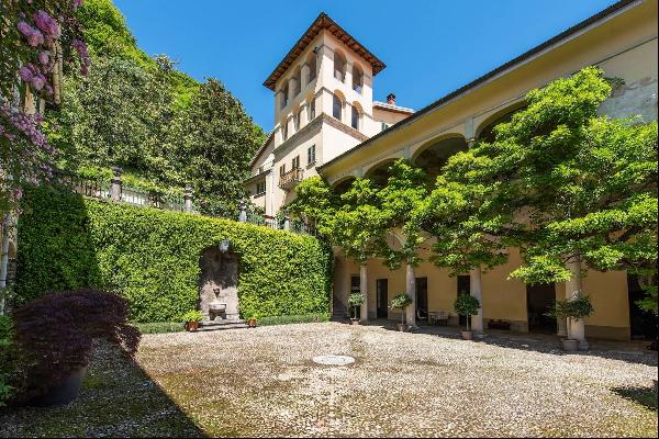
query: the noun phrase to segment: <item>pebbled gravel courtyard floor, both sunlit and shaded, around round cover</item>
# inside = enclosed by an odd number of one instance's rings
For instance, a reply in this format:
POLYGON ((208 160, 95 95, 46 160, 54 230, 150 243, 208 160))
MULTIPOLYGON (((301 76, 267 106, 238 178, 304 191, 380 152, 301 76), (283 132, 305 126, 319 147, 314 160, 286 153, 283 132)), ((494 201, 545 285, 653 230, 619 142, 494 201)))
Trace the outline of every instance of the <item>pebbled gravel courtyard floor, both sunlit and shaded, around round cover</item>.
POLYGON ((9 413, 0 436, 657 437, 656 352, 338 323, 144 336, 146 375, 101 352, 79 402, 9 413))

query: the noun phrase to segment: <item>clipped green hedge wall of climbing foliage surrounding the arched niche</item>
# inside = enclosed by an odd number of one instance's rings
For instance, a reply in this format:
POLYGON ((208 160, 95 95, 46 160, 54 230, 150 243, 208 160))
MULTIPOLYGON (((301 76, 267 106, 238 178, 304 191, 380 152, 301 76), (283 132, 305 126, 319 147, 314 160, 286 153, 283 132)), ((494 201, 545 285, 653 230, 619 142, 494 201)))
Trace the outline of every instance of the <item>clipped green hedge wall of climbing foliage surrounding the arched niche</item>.
POLYGON ((204 249, 230 239, 239 256, 241 313, 328 313, 331 248, 316 238, 228 219, 26 189, 19 221, 18 304, 48 291, 101 286, 135 322, 170 322, 198 304, 204 249))

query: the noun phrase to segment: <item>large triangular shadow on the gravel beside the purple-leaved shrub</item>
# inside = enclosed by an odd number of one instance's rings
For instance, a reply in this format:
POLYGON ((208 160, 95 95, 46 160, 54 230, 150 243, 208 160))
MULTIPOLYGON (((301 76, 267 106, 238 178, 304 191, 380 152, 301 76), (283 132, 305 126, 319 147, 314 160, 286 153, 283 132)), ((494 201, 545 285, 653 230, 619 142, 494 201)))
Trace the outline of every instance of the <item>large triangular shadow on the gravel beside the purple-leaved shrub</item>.
POLYGON ((119 349, 99 342, 80 395, 60 407, 0 412, 0 437, 205 437, 119 349))

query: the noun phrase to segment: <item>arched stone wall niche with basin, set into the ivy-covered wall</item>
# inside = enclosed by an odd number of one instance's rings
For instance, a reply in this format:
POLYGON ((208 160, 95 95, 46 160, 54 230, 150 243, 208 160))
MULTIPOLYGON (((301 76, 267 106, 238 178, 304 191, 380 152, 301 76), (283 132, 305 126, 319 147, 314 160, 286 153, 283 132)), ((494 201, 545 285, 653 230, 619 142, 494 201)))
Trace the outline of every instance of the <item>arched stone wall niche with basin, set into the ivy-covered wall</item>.
POLYGON ((220 251, 217 246, 209 247, 201 255, 199 264, 199 308, 204 319, 238 319, 238 256, 233 251, 220 251), (211 314, 209 304, 213 301, 225 303, 225 312, 211 314))

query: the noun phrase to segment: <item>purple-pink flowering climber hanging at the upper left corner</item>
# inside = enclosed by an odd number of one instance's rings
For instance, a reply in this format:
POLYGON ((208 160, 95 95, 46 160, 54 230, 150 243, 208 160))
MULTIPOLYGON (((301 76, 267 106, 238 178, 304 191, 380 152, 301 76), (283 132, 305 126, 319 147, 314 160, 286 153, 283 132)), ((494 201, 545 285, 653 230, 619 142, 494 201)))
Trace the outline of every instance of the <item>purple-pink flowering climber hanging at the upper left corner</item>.
POLYGON ((21 185, 48 178, 55 148, 41 115, 25 112, 24 97, 59 103, 63 63, 85 75, 89 54, 76 12, 82 0, 0 2, 0 218, 15 209, 21 185))

